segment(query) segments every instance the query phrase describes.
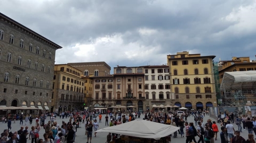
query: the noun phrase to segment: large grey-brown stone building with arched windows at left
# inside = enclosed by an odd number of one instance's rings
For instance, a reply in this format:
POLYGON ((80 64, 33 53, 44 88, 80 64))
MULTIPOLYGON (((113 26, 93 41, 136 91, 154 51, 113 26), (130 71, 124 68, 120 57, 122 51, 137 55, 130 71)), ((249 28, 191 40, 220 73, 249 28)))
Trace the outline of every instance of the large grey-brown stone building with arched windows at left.
POLYGON ((0 13, 0 105, 49 110, 55 51, 62 48, 0 13))

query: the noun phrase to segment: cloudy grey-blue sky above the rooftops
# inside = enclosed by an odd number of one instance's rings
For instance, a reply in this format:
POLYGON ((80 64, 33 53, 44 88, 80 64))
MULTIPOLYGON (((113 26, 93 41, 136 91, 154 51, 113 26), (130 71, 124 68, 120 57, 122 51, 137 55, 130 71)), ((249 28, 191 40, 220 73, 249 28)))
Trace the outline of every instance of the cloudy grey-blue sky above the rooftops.
MULTIPOLYGON (((180 51, 256 54, 256 0, 1 0, 1 12, 62 46, 56 64, 166 64, 180 51)), ((113 72, 113 71, 112 71, 113 72)))

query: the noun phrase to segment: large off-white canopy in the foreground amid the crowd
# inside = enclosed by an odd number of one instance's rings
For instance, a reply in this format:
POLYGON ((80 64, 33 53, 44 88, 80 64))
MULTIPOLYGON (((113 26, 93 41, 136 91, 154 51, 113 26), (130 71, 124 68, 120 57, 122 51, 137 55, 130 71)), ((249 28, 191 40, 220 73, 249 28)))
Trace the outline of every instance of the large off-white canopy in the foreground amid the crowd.
POLYGON ((161 137, 168 136, 179 129, 179 127, 172 125, 136 119, 118 126, 106 127, 95 132, 110 132, 142 138, 154 138, 157 140, 161 137))

